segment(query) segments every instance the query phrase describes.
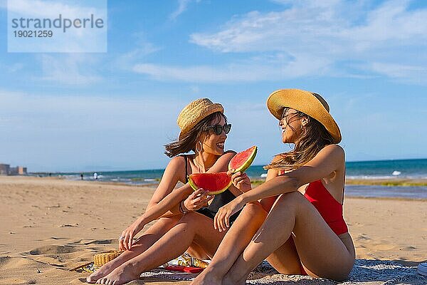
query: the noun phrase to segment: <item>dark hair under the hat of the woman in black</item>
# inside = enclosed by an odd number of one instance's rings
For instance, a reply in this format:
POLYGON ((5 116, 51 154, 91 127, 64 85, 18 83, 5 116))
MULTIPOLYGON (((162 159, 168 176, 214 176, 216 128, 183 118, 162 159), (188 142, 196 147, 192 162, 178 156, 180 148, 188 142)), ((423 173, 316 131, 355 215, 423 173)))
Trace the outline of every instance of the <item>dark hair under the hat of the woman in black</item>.
POLYGON ((201 133, 203 133, 206 128, 214 122, 214 120, 221 120, 221 118, 224 118, 227 123, 226 115, 221 112, 212 113, 206 118, 203 118, 194 126, 194 128, 191 128, 191 130, 185 133, 181 140, 176 140, 175 142, 170 142, 167 145, 164 145, 166 150, 164 154, 169 157, 174 157, 181 153, 189 152, 190 150, 195 152, 196 143, 199 141, 201 133))

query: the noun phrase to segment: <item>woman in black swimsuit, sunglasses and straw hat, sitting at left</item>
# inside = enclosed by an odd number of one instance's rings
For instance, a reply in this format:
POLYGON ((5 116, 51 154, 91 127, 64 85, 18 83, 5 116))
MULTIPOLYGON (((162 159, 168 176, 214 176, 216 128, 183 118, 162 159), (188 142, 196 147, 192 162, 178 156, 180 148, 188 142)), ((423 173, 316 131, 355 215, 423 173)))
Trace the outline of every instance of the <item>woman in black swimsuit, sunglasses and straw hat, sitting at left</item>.
MULTIPOLYGON (((221 195, 209 196, 201 189, 193 191, 187 177, 228 170, 228 162, 236 155, 224 151, 231 125, 223 115, 223 106, 207 98, 187 105, 177 123, 181 129, 179 139, 165 145, 165 154, 173 158, 146 212, 120 235, 119 248, 125 252, 91 274, 88 282, 125 284, 184 252, 199 259, 214 256, 226 231, 214 229, 213 218, 219 207, 242 192, 232 185, 221 195), (190 151, 194 154, 183 155, 190 151), (178 182, 184 186, 174 190, 178 182), (134 241, 135 235, 154 219, 157 222, 134 241)), ((236 212, 230 221, 237 216, 236 212)))

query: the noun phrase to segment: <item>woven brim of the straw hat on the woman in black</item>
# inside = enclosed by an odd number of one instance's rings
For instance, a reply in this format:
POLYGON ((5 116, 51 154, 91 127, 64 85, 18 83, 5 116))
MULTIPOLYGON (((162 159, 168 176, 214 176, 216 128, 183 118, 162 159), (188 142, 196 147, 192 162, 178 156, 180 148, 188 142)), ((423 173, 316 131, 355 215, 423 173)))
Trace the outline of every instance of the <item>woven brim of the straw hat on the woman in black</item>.
POLYGON ((200 105, 196 108, 184 109, 181 114, 179 114, 179 118, 181 118, 178 125, 180 125, 181 132, 179 133, 179 140, 184 138, 184 135, 194 128, 197 123, 206 118, 207 116, 221 112, 224 113, 224 108, 219 103, 211 103, 210 105, 200 105))

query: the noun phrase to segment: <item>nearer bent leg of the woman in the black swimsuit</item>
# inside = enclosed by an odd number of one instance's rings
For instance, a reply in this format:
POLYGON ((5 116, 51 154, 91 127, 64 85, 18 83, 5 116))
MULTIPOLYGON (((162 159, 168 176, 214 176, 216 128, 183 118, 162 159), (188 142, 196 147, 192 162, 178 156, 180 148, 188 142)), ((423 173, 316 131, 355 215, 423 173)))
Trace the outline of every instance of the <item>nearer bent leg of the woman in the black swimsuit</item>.
POLYGON ((214 229, 209 217, 189 212, 151 247, 118 266, 97 283, 118 285, 135 280, 141 272, 179 257, 193 242, 204 249, 209 257, 213 257, 225 234, 214 229))

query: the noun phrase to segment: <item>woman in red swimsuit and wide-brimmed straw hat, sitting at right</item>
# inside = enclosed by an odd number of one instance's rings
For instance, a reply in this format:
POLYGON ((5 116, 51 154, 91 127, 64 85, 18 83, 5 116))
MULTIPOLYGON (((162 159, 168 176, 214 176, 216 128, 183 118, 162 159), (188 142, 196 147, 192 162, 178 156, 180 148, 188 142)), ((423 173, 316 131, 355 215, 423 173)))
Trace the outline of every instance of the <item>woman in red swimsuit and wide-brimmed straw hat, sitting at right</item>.
POLYGON ((317 93, 298 89, 271 93, 267 106, 279 120, 283 142, 295 147, 273 158, 265 167, 267 181, 253 190, 245 174, 232 176, 248 192, 219 209, 214 227, 228 229, 228 217, 248 203, 258 204, 265 219, 255 224, 243 208, 193 285, 245 284, 264 259, 282 274, 337 281, 352 270, 354 244, 342 217, 344 150, 329 106, 317 93))

